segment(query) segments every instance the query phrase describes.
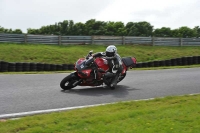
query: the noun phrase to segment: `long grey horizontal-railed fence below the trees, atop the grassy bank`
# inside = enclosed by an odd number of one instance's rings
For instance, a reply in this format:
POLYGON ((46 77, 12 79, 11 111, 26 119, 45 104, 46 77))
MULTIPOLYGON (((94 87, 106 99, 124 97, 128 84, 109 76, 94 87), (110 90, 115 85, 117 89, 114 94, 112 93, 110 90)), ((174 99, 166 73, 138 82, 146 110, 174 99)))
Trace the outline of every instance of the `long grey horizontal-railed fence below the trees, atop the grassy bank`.
POLYGON ((27 44, 141 44, 151 46, 200 46, 200 38, 136 37, 136 36, 61 36, 0 33, 1 43, 27 44))

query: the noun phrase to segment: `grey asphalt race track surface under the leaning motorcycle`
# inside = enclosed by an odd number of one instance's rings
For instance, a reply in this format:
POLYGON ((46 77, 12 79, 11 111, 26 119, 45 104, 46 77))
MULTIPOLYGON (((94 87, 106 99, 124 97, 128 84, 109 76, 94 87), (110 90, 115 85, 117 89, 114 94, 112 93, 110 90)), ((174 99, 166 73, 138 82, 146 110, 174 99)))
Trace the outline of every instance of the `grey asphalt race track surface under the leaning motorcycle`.
POLYGON ((59 84, 66 75, 0 75, 0 116, 200 93, 200 68, 128 71, 115 90, 78 86, 62 91, 59 84))

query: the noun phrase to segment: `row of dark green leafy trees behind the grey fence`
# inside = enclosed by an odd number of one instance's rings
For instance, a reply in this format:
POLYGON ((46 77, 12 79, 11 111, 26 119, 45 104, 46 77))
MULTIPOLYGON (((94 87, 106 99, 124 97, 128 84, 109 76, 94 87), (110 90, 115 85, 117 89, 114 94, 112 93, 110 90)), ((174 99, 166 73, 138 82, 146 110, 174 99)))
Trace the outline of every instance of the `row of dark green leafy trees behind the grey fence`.
MULTIPOLYGON (((22 34, 20 29, 5 29, 0 26, 0 33, 22 34)), ((85 23, 74 23, 73 20, 64 20, 53 25, 42 26, 39 29, 27 29, 27 34, 37 35, 108 35, 108 36, 141 36, 141 37, 200 37, 200 27, 189 28, 182 26, 177 29, 162 27, 154 29, 149 22, 128 22, 124 24, 121 21, 96 21, 90 19, 85 23)))

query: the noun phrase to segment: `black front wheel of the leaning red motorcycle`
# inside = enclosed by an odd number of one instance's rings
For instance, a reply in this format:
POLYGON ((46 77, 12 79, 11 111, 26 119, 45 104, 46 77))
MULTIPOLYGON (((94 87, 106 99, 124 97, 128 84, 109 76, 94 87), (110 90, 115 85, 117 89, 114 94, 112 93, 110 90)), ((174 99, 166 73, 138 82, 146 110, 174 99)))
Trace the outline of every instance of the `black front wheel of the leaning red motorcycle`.
POLYGON ((74 86, 73 84, 79 80, 78 76, 75 73, 71 73, 70 75, 66 76, 61 82, 60 82, 60 87, 63 90, 70 90, 74 86))

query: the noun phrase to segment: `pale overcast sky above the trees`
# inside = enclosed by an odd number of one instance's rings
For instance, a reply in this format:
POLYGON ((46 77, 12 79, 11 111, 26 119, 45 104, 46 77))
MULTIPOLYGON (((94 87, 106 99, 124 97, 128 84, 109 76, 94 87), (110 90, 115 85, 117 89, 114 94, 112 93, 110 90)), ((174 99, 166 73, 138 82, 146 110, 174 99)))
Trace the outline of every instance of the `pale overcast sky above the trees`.
POLYGON ((0 26, 21 29, 73 20, 147 21, 154 28, 200 26, 198 0, 0 0, 0 26))

